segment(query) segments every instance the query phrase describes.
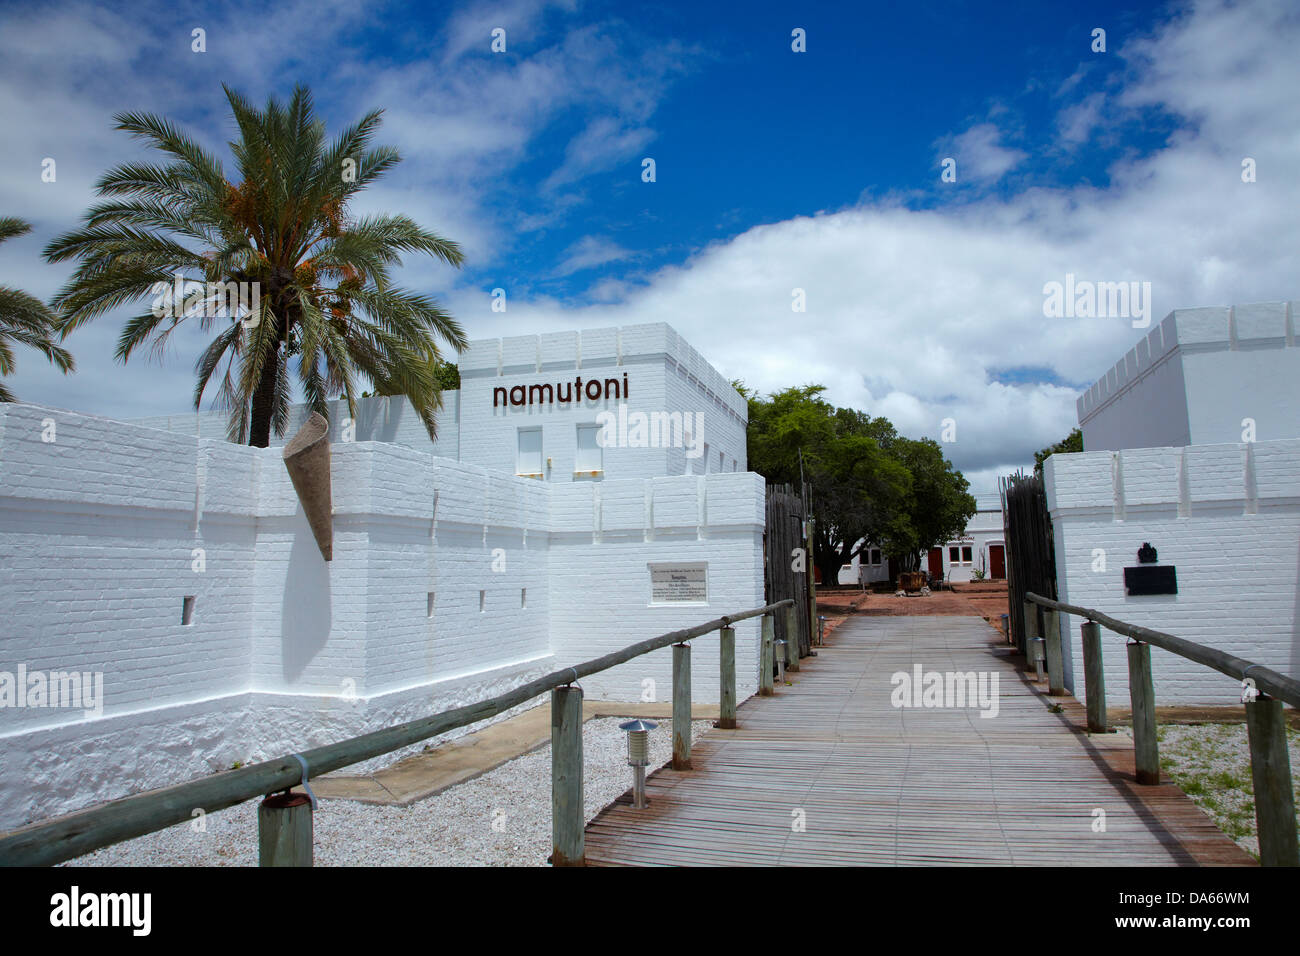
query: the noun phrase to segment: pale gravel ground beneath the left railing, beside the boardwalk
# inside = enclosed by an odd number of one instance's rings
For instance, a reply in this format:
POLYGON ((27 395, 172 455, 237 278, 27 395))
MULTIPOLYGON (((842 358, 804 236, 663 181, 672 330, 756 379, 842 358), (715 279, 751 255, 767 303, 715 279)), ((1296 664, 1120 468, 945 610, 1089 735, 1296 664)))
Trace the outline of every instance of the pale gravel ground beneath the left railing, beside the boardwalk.
MULTIPOLYGON (((592 819, 632 786, 624 718, 582 726, 584 793, 592 819)), ((708 721, 693 721, 699 737, 708 721)), ((672 757, 672 721, 650 732, 650 766, 672 757)), ((208 814, 204 831, 177 823, 87 853, 66 866, 256 866, 257 801, 208 814)), ((322 801, 317 866, 545 866, 551 852, 551 748, 516 757, 411 806, 322 801)))

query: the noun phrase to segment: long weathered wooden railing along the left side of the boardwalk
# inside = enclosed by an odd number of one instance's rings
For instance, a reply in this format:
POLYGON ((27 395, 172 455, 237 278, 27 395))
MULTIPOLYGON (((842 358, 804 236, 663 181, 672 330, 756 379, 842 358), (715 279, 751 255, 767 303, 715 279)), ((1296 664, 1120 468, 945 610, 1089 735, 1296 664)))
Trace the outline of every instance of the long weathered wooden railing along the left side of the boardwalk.
MULTIPOLYGON (((213 774, 162 790, 122 797, 87 810, 30 823, 0 835, 0 866, 48 866, 122 840, 188 821, 199 810, 216 813, 255 797, 266 799, 257 810, 259 861, 263 866, 311 866, 312 801, 287 791, 313 777, 382 757, 403 747, 495 717, 551 692, 551 819, 556 866, 582 865, 586 819, 582 812, 582 691, 581 678, 668 645, 672 667, 673 766, 690 766, 690 646, 685 641, 712 631, 720 633, 719 727, 736 726, 736 631, 732 624, 763 617, 759 693, 774 693, 772 614, 793 601, 728 614, 697 627, 649 637, 604 657, 564 667, 490 700, 445 710, 432 717, 317 747, 298 754, 213 774), (269 796, 268 796, 269 795, 269 796)), ((788 618, 788 620, 789 620, 788 618)), ((793 622, 792 622, 793 626, 793 622)), ((797 645, 796 645, 797 646, 797 645)), ((798 653, 797 649, 794 653, 798 653)))

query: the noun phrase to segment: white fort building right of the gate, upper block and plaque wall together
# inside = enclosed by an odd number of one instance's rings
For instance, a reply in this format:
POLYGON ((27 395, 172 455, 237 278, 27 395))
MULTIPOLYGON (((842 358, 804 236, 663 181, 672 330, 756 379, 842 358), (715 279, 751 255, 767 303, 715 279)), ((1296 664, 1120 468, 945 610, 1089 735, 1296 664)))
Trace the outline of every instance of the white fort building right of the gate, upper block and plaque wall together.
MULTIPOLYGON (((1044 463, 1062 601, 1300 676, 1300 349, 1295 303, 1170 313, 1079 399, 1083 447, 1044 463), (1149 542, 1176 593, 1130 594, 1149 542)), ((1080 622, 1062 615, 1084 693, 1080 622)), ((1106 700, 1128 706, 1102 628, 1106 700)), ((1152 649, 1157 704, 1228 705, 1238 682, 1152 649)))

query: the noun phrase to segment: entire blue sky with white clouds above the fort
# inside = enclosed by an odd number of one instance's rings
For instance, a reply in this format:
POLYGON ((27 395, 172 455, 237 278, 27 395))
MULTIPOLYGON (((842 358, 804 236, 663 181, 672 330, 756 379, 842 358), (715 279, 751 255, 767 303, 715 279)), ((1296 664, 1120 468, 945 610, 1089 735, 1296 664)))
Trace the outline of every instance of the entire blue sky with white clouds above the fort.
MULTIPOLYGON (((1149 281, 1152 321, 1300 298, 1297 48, 1294 4, 1268 0, 0 7, 0 211, 36 226, 0 248, 0 282, 48 297, 64 280, 42 246, 143 155, 114 112, 164 113, 224 153, 222 82, 256 100, 302 82, 332 129, 387 111, 380 139, 406 161, 358 211, 463 245, 464 269, 410 260, 402 280, 471 338, 667 321, 764 390, 822 382, 909 434, 953 418, 949 455, 987 492, 1145 334, 1045 317, 1045 282, 1149 281)), ((122 368, 122 317, 70 338, 75 376, 20 355, 10 388, 187 408, 203 336, 122 368)))

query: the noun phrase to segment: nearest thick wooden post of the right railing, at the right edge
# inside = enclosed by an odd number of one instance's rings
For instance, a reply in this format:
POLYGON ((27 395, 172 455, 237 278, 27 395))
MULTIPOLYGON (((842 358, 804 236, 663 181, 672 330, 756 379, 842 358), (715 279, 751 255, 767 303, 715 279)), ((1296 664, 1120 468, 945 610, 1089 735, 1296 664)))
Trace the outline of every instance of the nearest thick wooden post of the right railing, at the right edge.
POLYGON ((1264 696, 1249 701, 1245 705, 1245 728, 1251 737, 1260 865, 1300 866, 1291 758, 1287 756, 1287 722, 1282 701, 1264 696))

